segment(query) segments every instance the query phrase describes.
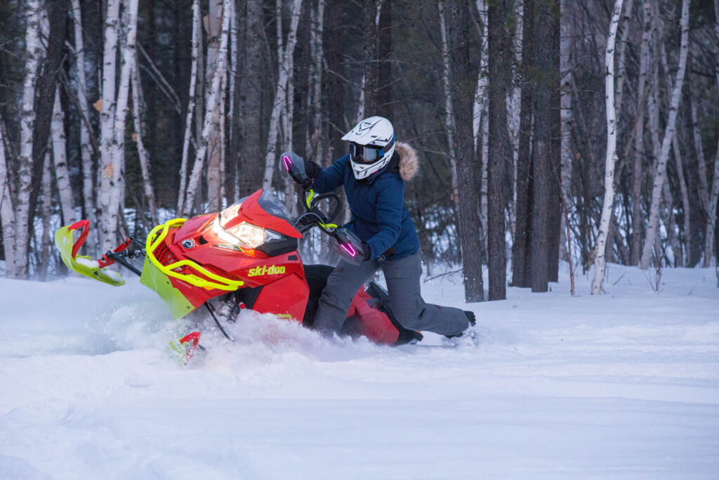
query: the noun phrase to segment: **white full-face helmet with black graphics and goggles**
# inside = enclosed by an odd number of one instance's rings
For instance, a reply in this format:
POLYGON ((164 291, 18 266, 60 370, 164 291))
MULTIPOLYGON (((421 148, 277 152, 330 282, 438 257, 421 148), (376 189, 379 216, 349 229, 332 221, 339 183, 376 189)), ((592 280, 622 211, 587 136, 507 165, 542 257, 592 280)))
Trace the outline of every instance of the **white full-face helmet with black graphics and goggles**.
POLYGON ((342 140, 349 140, 349 159, 357 180, 380 171, 395 153, 395 129, 384 117, 362 120, 342 140))

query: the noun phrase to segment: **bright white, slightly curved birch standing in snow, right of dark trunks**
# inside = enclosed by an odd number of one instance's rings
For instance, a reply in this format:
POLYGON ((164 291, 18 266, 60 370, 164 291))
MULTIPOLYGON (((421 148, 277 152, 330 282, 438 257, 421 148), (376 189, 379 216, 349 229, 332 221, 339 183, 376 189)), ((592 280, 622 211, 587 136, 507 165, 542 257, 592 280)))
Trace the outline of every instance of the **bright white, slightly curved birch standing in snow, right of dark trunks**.
POLYGON ((610 221, 612 219, 612 207, 614 206, 614 164, 617 160, 617 120, 614 105, 614 47, 617 38, 617 27, 622 10, 623 0, 615 0, 612 11, 612 20, 609 25, 607 37, 607 51, 605 56, 605 100, 607 105, 607 156, 605 158, 604 171, 604 204, 602 207, 602 219, 597 234, 597 245, 594 255, 594 279, 592 280, 592 295, 602 293, 604 283, 604 263, 607 237, 610 221))

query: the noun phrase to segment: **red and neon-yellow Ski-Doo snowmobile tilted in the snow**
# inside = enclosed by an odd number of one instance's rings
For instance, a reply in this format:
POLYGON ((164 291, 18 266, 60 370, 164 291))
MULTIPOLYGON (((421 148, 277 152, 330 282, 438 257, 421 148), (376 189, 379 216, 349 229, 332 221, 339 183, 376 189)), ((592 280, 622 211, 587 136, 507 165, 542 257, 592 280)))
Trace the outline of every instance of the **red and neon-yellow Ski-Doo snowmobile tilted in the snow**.
MULTIPOLYGON (((283 153, 281 159, 280 165, 303 187, 305 212, 298 217, 290 218, 288 209, 271 191, 260 189, 221 212, 157 225, 144 241, 126 238, 98 260, 78 255, 88 235, 88 220, 61 227, 55 233, 55 245, 68 268, 106 284, 125 283, 119 273, 106 270, 114 263, 136 273, 141 284, 165 301, 175 320, 205 307, 229 340, 232 338, 221 320, 236 322, 243 309, 312 327, 321 291, 333 268, 303 264, 298 239, 318 227, 345 261, 358 264, 364 252, 354 233, 331 223, 342 209, 339 196, 315 195, 303 160, 295 153, 283 153), (75 232, 79 232, 77 240, 75 232)), ((420 332, 407 330, 395 320, 387 291, 375 282, 357 291, 342 334, 364 335, 385 345, 422 339, 420 332)), ((173 340, 171 353, 187 363, 200 337, 201 332, 191 332, 173 340)))

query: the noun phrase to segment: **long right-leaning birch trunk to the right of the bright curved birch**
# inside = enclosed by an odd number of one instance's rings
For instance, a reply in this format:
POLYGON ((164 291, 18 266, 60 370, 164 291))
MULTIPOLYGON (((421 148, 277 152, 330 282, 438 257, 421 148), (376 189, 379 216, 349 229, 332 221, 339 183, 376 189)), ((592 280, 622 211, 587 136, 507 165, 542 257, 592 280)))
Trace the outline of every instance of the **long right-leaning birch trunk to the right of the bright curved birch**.
POLYGON ((674 89, 672 90, 672 99, 669 104, 669 118, 667 119, 666 130, 664 131, 664 139, 661 142, 661 152, 659 153, 659 158, 656 162, 656 172, 654 173, 654 186, 651 191, 651 208, 649 209, 649 225, 646 229, 646 240, 644 240, 644 249, 641 255, 641 268, 643 270, 649 268, 654 237, 659 227, 661 186, 664 184, 664 174, 667 171, 667 158, 669 158, 669 148, 672 145, 674 127, 677 122, 679 99, 681 99, 682 96, 684 73, 687 68, 687 53, 689 51, 689 0, 682 1, 682 20, 680 24, 682 28, 682 44, 679 50, 679 69, 677 71, 677 81, 674 83, 674 89))

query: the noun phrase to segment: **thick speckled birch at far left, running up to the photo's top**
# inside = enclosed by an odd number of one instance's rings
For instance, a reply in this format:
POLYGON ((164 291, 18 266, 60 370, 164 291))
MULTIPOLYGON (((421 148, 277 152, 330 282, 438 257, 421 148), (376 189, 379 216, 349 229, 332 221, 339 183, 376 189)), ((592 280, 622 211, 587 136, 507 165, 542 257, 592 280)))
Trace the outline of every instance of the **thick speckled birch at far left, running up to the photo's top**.
POLYGON ((26 4, 27 30, 25 32, 24 81, 20 101, 20 151, 18 158, 18 187, 15 208, 14 264, 6 265, 10 278, 27 279, 29 276, 29 201, 32 189, 32 134, 35 129, 35 88, 42 44, 40 42, 41 6, 37 0, 26 4))

